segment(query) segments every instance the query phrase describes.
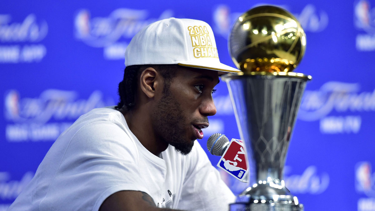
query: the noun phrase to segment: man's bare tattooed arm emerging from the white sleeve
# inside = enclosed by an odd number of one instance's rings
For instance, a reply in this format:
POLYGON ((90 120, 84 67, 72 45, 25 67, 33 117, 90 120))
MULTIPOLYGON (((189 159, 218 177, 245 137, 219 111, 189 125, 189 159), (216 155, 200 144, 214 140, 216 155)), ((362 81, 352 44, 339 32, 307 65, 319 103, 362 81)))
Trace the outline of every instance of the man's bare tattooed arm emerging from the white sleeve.
POLYGON ((141 191, 118 191, 104 200, 99 211, 173 211, 177 209, 157 208, 150 195, 141 191))

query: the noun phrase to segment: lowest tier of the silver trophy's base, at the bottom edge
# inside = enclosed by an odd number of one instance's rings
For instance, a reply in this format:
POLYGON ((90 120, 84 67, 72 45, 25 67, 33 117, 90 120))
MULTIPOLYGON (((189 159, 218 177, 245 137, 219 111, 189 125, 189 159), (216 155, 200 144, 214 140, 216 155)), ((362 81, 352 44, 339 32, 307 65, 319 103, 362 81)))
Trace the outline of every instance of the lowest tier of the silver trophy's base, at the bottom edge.
MULTIPOLYGON (((287 201, 285 201, 287 202, 287 201)), ((245 203, 236 202, 229 205, 230 211, 303 211, 303 205, 285 202, 273 203, 245 203)))

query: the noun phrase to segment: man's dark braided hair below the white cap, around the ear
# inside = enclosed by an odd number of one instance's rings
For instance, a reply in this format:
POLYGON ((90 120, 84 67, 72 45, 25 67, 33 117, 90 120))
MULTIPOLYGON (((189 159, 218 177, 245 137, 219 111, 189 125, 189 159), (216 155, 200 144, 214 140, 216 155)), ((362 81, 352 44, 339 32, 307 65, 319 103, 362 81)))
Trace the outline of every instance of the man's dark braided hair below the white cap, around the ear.
POLYGON ((152 67, 164 78, 164 89, 168 89, 171 79, 175 77, 175 69, 178 65, 131 65, 124 70, 124 78, 118 84, 119 102, 115 109, 121 109, 123 106, 126 110, 131 110, 135 106, 135 96, 137 92, 138 79, 141 72, 152 67))

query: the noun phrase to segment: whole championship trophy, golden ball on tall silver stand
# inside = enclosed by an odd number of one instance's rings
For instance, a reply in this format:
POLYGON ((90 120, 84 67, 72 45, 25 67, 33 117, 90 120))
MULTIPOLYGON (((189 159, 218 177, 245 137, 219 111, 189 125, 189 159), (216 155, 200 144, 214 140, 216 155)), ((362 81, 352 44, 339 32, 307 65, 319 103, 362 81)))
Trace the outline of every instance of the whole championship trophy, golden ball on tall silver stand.
POLYGON ((306 35, 292 14, 259 6, 241 15, 229 35, 240 74, 226 82, 249 168, 248 188, 231 211, 303 211, 283 180, 285 157, 310 75, 291 72, 302 59, 306 35))

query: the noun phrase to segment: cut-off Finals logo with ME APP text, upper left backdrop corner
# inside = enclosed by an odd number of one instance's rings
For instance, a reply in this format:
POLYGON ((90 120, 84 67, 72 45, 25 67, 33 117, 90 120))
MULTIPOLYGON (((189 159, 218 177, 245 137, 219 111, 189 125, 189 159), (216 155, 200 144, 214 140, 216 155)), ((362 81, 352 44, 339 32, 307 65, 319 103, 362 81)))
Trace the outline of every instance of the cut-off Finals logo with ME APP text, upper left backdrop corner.
POLYGON ((0 14, 0 63, 40 62, 46 47, 39 42, 48 33, 46 21, 29 14, 14 21, 9 14, 0 14))

